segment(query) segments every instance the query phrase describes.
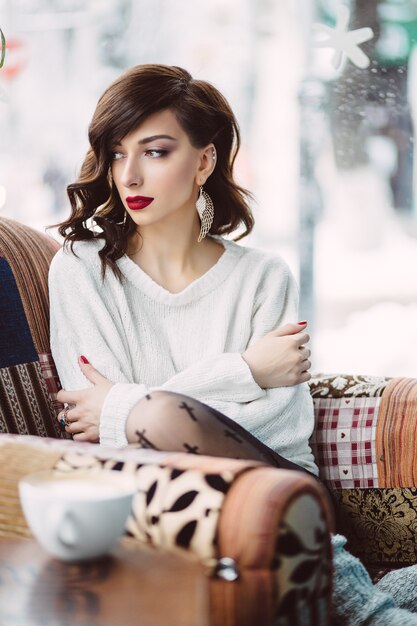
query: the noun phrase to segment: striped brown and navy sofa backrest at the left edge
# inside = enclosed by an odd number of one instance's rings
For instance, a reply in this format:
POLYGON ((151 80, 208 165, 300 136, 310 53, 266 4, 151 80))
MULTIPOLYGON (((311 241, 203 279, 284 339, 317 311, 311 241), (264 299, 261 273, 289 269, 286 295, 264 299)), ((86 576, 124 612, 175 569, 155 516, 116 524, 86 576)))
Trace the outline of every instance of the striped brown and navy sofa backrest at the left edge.
POLYGON ((49 346, 50 237, 0 218, 0 432, 61 437, 49 346))

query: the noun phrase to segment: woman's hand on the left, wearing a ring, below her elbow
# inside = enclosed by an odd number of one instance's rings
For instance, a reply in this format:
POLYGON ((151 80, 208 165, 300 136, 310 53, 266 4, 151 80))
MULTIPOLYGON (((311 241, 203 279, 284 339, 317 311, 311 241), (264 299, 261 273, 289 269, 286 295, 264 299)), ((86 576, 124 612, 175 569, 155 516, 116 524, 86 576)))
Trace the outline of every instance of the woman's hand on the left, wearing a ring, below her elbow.
POLYGON ((58 419, 60 422, 64 420, 65 431, 76 441, 98 443, 101 409, 113 383, 104 378, 88 361, 84 363, 79 358, 78 364, 84 376, 94 386, 78 391, 59 391, 57 400, 69 404, 70 408, 61 411, 58 419))

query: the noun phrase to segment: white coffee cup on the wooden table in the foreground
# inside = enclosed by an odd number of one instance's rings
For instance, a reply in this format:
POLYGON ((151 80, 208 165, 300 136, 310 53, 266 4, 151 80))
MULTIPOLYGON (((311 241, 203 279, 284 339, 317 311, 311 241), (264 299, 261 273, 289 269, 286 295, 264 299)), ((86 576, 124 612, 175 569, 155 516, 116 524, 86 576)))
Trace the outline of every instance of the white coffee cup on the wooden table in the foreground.
POLYGON ((46 470, 19 481, 20 502, 34 536, 65 561, 111 550, 124 532, 135 491, 133 476, 110 470, 46 470))

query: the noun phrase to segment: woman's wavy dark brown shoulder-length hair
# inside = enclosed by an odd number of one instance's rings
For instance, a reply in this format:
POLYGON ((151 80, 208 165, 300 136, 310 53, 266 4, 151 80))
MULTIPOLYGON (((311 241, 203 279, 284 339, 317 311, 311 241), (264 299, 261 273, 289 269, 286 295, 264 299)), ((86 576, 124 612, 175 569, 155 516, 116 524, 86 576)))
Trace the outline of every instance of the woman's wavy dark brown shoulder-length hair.
POLYGON ((165 109, 175 114, 195 148, 210 143, 216 147, 216 167, 205 183, 215 207, 210 233, 229 234, 243 225, 237 241, 253 228, 247 202, 251 194, 233 179, 240 133, 227 100, 213 85, 194 80, 180 67, 137 65, 117 78, 99 99, 88 129, 90 148, 78 180, 67 187, 71 215, 57 224, 71 249, 75 241, 105 240, 99 251, 103 276, 110 267, 121 277, 116 261, 126 253, 137 230, 112 183, 111 151, 147 117, 165 109), (92 217, 102 232, 90 228, 92 217))

